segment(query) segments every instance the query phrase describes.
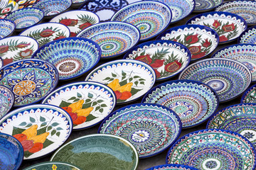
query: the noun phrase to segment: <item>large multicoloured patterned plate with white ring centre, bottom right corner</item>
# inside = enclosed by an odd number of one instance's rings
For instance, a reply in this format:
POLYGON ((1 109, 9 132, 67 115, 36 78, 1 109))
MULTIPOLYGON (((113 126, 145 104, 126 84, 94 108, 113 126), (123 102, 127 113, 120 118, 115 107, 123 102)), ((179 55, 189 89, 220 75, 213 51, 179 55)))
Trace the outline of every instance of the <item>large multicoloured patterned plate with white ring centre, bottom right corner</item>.
POLYGON ((171 146, 166 164, 186 164, 197 169, 255 169, 255 148, 236 132, 198 130, 181 137, 171 146))

